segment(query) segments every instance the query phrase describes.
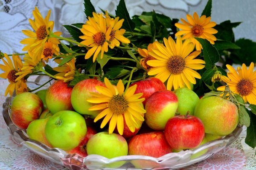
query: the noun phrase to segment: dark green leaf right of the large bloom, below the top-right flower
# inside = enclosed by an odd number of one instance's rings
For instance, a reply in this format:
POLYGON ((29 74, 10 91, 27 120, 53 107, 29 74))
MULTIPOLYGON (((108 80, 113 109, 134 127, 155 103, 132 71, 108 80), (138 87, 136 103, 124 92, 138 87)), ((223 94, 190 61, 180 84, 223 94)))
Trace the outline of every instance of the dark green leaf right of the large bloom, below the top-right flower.
POLYGON ((217 49, 212 46, 212 44, 208 40, 198 37, 196 37, 195 39, 198 40, 203 47, 205 68, 212 68, 213 65, 220 60, 220 55, 218 54, 217 49))

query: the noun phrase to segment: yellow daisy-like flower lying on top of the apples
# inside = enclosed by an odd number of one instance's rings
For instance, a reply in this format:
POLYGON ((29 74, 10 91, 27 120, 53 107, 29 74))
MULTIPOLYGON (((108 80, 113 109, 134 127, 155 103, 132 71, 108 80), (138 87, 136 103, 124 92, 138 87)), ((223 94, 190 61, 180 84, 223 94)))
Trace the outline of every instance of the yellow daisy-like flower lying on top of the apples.
POLYGON ((122 80, 119 80, 116 85, 117 91, 106 77, 104 82, 106 88, 96 86, 96 90, 99 91, 99 93, 90 93, 93 98, 87 99, 88 102, 99 104, 89 108, 90 111, 103 109, 103 111, 96 116, 94 122, 105 117, 100 127, 105 127, 109 122, 108 132, 110 134, 113 133, 113 130, 117 126, 118 133, 122 135, 124 130, 124 115, 126 124, 131 132, 134 132, 135 128, 139 128, 135 118, 144 121, 142 113, 145 113, 146 111, 143 108, 142 102, 145 99, 140 99, 143 94, 134 94, 137 85, 131 86, 124 92, 125 87, 122 80))

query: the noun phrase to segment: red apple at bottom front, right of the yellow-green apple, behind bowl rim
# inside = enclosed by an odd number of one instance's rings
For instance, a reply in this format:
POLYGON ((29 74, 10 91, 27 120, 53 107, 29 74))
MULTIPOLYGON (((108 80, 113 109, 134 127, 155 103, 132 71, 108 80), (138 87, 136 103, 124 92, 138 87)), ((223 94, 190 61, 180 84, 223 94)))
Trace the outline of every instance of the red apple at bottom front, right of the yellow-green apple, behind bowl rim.
MULTIPOLYGON (((158 158, 171 153, 172 149, 167 143, 164 133, 154 131, 133 136, 128 142, 129 155, 144 155, 158 158)), ((133 160, 131 163, 140 169, 155 167, 155 162, 147 160, 133 160)))

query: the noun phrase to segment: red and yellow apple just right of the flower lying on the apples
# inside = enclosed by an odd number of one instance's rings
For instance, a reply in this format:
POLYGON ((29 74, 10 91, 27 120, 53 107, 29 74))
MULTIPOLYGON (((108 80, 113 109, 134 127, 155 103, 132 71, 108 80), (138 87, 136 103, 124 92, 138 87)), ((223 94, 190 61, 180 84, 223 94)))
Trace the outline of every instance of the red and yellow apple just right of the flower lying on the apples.
POLYGON ((149 96, 145 104, 145 122, 154 130, 164 130, 166 122, 175 116, 178 99, 169 90, 156 91, 149 96))

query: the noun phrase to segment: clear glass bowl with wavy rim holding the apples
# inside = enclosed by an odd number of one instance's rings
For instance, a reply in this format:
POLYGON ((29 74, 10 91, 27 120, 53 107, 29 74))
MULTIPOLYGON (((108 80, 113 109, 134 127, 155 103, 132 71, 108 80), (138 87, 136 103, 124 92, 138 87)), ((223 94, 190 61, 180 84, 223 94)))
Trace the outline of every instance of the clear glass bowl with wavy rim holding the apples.
MULTIPOLYGON (((34 82, 30 82, 29 85, 36 87, 43 84, 40 83, 40 81, 42 81, 42 77, 35 79, 34 82)), ((47 88, 47 85, 45 88, 47 88)), ((3 117, 11 135, 13 135, 20 144, 23 144, 38 155, 57 164, 68 167, 71 170, 179 169, 208 159, 214 153, 217 153, 234 142, 242 131, 242 127, 238 126, 229 135, 224 136, 221 139, 207 142, 197 149, 182 150, 178 153, 168 153, 159 158, 141 155, 119 156, 113 159, 108 159, 100 155, 88 155, 87 157, 81 157, 79 154, 68 154, 59 148, 50 148, 45 144, 29 139, 26 134, 26 129, 16 127, 9 116, 13 97, 14 96, 7 97, 6 101, 3 103, 3 117), (121 167, 116 167, 117 164, 123 165, 121 167)))

